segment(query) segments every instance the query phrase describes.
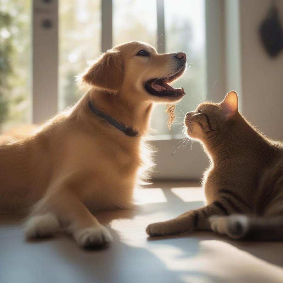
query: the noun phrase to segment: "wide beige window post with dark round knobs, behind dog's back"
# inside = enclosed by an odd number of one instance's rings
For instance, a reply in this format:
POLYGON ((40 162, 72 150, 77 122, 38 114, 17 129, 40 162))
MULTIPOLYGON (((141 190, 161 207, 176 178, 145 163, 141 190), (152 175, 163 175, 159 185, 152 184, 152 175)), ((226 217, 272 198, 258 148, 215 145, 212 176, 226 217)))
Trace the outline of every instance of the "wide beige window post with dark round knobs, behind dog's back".
POLYGON ((39 124, 58 111, 58 1, 32 4, 32 117, 39 124))

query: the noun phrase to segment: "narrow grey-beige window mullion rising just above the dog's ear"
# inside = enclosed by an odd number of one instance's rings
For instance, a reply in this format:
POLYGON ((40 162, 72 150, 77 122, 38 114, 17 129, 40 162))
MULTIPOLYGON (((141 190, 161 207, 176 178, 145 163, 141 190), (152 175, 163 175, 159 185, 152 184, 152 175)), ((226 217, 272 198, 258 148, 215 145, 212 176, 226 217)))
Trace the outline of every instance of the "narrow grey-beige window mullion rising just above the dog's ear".
POLYGON ((101 0, 101 51, 112 48, 112 0, 101 0))

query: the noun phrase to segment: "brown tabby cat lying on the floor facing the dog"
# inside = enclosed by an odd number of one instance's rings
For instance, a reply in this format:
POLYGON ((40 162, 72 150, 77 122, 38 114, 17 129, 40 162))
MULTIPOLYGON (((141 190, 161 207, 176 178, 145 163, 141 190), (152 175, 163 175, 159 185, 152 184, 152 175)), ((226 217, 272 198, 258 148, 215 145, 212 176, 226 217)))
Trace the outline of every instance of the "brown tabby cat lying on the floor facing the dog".
POLYGON ((203 177, 207 205, 148 225, 147 234, 214 230, 235 239, 283 240, 283 143, 249 124, 236 92, 221 103, 201 103, 185 125, 210 159, 203 177))

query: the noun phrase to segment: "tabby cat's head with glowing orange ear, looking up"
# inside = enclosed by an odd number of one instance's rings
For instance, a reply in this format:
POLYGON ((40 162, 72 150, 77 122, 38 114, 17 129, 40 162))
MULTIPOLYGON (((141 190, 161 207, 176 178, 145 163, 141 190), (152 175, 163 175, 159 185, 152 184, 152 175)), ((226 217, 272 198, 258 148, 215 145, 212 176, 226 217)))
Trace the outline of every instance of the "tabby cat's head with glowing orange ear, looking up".
POLYGON ((213 136, 226 131, 235 122, 238 114, 238 95, 229 92, 220 103, 206 102, 185 117, 187 134, 192 139, 206 142, 213 136))

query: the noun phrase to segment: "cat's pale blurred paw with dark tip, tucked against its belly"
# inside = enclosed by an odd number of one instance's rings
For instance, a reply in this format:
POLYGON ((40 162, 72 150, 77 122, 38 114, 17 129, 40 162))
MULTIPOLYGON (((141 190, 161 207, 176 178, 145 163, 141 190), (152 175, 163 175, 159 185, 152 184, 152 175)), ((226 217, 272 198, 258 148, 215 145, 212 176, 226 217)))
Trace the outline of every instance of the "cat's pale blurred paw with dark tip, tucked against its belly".
POLYGON ((211 216, 209 218, 211 229, 233 239, 243 238, 248 231, 248 217, 241 214, 230 216, 211 216))

